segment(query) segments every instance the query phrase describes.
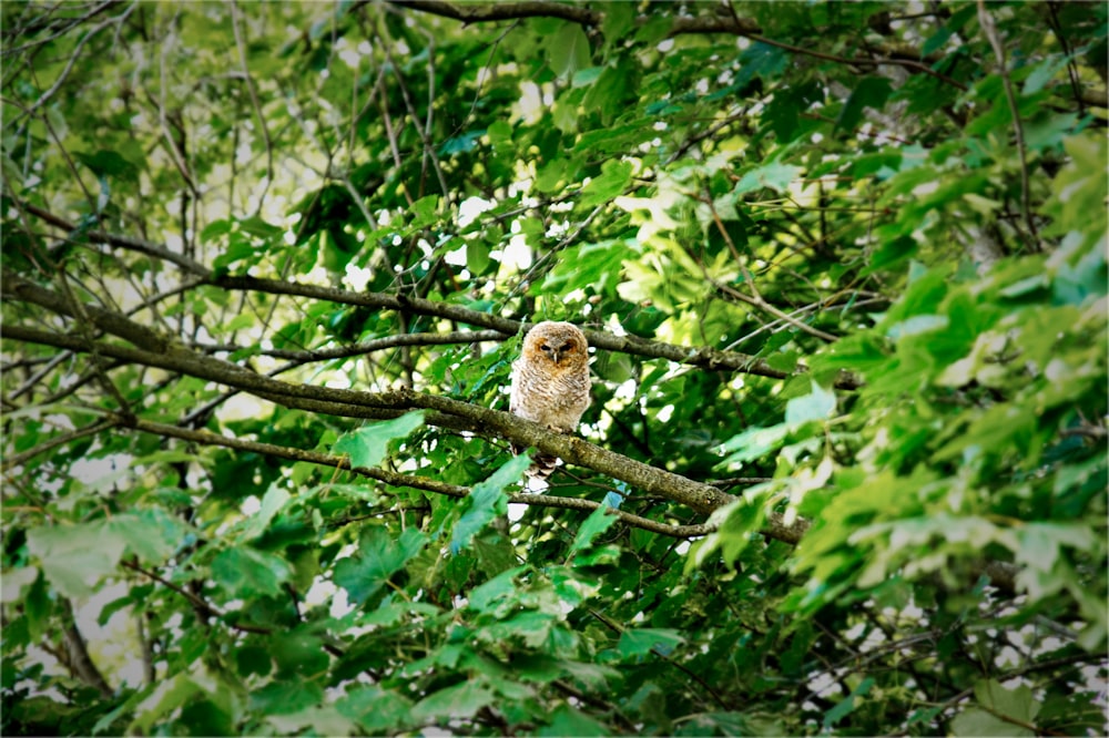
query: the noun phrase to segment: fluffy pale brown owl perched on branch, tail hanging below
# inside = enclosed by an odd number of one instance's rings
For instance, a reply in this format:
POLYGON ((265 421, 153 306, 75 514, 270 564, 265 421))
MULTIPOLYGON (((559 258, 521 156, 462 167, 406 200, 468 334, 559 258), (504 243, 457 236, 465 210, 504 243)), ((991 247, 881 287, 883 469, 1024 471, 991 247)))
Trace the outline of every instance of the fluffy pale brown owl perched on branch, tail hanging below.
MULTIPOLYGON (((587 348, 586 335, 573 324, 536 324, 523 338, 520 358, 512 362, 509 411, 562 433, 577 430, 589 407, 587 348)), ((540 454, 533 461, 528 474, 546 479, 558 460, 540 454)))

